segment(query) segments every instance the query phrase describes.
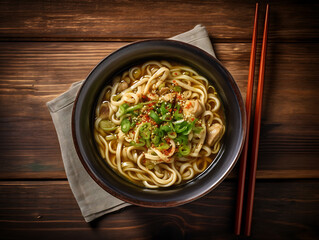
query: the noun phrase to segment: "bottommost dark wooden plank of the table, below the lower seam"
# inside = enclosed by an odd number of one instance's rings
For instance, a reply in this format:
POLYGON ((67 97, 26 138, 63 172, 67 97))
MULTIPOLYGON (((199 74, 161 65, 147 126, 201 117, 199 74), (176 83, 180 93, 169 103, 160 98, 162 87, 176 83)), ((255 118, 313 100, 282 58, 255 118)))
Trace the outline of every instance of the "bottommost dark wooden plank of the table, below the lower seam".
MULTIPOLYGON (((1 182, 1 238, 234 239, 236 184, 184 206, 131 206, 87 224, 65 181, 1 182)), ((252 237, 316 239, 318 189, 318 180, 257 181, 252 237)))

